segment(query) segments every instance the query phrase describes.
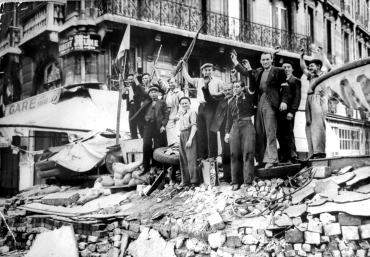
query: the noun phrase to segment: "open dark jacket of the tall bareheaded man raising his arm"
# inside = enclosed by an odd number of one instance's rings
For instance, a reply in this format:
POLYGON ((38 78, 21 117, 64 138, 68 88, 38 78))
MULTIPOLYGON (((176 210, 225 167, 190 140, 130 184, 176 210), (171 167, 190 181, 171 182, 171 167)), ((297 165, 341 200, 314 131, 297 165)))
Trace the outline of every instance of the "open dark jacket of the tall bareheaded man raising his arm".
MULTIPOLYGON (((248 70, 240 63, 235 66, 235 69, 244 76, 248 75, 248 70)), ((249 77, 249 82, 251 82, 249 85, 249 90, 252 92, 255 91, 258 97, 261 96, 261 92, 259 92, 259 85, 261 82, 262 72, 263 68, 258 68, 254 71, 254 76, 249 77)), ((281 86, 281 84, 285 82, 286 75, 284 70, 282 68, 272 66, 267 78, 267 97, 270 99, 272 105, 277 109, 279 109, 280 103, 284 102, 288 105, 291 99, 290 88, 287 86, 281 86)))

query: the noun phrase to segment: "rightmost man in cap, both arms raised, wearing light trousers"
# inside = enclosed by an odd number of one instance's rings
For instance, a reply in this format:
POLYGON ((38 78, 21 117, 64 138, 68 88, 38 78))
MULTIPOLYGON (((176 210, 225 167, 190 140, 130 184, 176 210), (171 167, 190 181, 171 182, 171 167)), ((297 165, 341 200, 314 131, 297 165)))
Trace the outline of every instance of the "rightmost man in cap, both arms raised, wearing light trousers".
POLYGON ((306 137, 308 144, 309 159, 325 158, 326 148, 326 113, 328 110, 328 99, 326 90, 322 84, 313 87, 314 82, 325 74, 321 70, 323 61, 328 70, 331 70, 331 65, 322 53, 322 49, 318 49, 320 59, 313 59, 309 62, 308 69, 304 61, 304 51, 301 52, 300 65, 303 73, 307 76, 310 82, 307 92, 306 102, 306 137))

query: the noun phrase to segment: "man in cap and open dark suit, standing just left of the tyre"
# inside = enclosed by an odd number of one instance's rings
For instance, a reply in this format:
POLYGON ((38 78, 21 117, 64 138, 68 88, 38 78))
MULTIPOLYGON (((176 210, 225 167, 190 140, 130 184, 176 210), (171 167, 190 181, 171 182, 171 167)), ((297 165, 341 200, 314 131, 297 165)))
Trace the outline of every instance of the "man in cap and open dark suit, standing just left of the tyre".
MULTIPOLYGON (((150 171, 150 159, 153 151, 167 145, 166 125, 168 122, 168 108, 165 101, 158 99, 159 88, 152 86, 148 89, 150 99, 143 102, 139 111, 130 120, 144 125, 143 136, 143 172, 150 171), (154 141, 154 148, 152 148, 154 141)), ((152 160, 156 166, 155 160, 152 160)))

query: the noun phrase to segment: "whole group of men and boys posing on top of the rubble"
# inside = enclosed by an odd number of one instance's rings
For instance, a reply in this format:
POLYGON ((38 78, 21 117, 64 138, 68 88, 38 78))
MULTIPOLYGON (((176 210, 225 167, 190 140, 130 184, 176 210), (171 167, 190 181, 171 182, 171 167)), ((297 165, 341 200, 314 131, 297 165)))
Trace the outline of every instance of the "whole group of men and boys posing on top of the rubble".
MULTIPOLYGON (((252 184, 256 166, 269 169, 279 162, 297 163, 293 129, 301 101, 301 81, 293 75, 293 62, 283 60, 282 67, 273 65, 276 52, 262 53, 262 67, 253 70, 247 59, 239 63, 237 53, 232 51, 234 69, 242 76, 227 84, 212 76, 211 63, 202 65, 201 78, 192 78, 185 62, 180 61, 184 79, 196 89, 197 111, 190 107, 190 98, 184 96, 175 78, 168 79, 168 85, 158 78, 158 84, 153 85, 148 73, 143 74, 142 83, 137 74, 128 75, 122 97, 127 99, 132 138, 138 138, 137 130, 143 138, 143 173, 151 168, 154 149, 178 144, 180 186, 197 185, 198 161, 212 161, 218 155, 217 132, 222 141, 223 180, 233 190, 252 184), (163 95, 161 99, 159 94, 163 95)), ((306 104, 310 158, 325 157, 325 89, 312 87, 324 74, 323 61, 329 64, 324 55, 320 56, 322 60, 311 60, 308 68, 304 52, 300 61, 310 81, 306 104)), ((154 159, 152 166, 156 166, 154 159)))

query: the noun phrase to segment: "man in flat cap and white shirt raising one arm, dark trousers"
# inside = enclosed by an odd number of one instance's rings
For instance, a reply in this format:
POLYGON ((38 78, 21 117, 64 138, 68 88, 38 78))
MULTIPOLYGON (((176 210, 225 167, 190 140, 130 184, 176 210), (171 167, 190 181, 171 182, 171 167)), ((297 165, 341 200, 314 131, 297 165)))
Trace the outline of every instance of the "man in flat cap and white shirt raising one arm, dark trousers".
MULTIPOLYGON (((182 61, 183 62, 183 61, 182 61)), ((183 64, 184 66, 184 64, 183 64)), ((194 85, 197 89, 198 107, 198 127, 197 127, 197 146, 198 156, 202 159, 217 157, 217 134, 211 131, 211 124, 216 112, 217 104, 207 103, 202 88, 208 85, 212 97, 223 96, 221 90, 223 82, 212 77, 213 64, 206 63, 200 68, 203 78, 190 77, 186 67, 183 67, 182 74, 187 82, 194 85)))

